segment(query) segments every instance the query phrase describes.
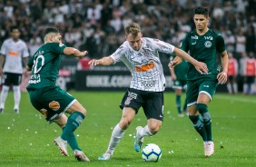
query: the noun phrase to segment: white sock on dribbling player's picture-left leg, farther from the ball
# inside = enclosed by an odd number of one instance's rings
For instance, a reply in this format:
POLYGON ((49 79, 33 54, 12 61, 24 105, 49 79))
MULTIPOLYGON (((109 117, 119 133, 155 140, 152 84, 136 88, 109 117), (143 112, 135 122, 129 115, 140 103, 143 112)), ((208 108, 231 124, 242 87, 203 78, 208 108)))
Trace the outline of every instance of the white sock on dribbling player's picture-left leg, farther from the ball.
POLYGON ((119 126, 119 124, 116 124, 115 127, 113 128, 113 132, 111 135, 111 139, 108 145, 108 151, 110 151, 111 153, 113 153, 116 145, 121 141, 121 139, 123 138, 123 134, 124 134, 124 130, 122 130, 119 126))

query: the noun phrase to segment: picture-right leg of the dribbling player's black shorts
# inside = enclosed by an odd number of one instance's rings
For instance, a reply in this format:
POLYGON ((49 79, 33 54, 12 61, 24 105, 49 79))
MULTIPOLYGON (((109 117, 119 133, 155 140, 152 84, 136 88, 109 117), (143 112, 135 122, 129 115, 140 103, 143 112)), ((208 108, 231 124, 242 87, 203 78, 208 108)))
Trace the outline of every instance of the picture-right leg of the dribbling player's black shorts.
POLYGON ((156 119, 162 121, 163 119, 163 93, 162 92, 148 92, 143 96, 145 103, 143 103, 143 110, 147 119, 156 119))

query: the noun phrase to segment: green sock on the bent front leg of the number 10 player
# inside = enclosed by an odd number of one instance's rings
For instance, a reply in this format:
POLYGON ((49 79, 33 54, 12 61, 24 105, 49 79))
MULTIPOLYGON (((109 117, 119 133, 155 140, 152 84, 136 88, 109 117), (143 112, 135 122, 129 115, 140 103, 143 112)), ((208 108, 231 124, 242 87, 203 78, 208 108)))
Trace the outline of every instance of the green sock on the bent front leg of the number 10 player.
POLYGON ((84 114, 79 112, 72 113, 65 124, 63 133, 61 135, 62 139, 68 142, 72 150, 80 150, 76 138, 74 136, 74 131, 82 123, 84 119, 84 114))

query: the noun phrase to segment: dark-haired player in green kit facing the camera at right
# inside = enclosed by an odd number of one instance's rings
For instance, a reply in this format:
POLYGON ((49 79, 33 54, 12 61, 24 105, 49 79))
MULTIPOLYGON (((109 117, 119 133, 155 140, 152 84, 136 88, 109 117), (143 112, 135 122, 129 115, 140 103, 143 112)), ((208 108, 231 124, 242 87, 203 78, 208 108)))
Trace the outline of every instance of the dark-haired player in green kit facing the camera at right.
MULTIPOLYGON (((212 119, 207 105, 212 101, 218 83, 223 84, 227 81, 229 60, 222 34, 208 28, 209 20, 208 9, 202 6, 197 7, 193 15, 196 29, 188 33, 181 44, 183 51, 189 51, 194 59, 208 66, 208 74, 200 74, 192 64, 189 64, 186 94, 189 118, 195 130, 202 136, 206 157, 214 152, 212 119), (221 54, 222 72, 217 69, 217 53, 221 54), (202 120, 199 113, 202 115, 202 120)), ((172 68, 181 62, 182 59, 176 56, 169 66, 172 68)))

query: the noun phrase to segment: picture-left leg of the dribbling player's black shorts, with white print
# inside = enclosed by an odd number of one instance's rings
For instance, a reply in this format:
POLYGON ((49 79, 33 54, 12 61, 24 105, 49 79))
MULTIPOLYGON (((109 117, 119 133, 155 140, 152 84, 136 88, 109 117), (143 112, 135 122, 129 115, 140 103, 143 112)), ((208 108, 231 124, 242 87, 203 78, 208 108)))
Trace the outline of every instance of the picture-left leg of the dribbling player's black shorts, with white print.
POLYGON ((124 107, 133 108, 135 113, 138 113, 139 109, 141 108, 141 106, 144 103, 142 95, 143 95, 142 91, 129 88, 126 91, 126 93, 123 95, 123 99, 120 104, 120 108, 122 110, 124 107))

